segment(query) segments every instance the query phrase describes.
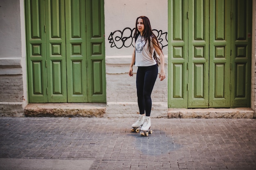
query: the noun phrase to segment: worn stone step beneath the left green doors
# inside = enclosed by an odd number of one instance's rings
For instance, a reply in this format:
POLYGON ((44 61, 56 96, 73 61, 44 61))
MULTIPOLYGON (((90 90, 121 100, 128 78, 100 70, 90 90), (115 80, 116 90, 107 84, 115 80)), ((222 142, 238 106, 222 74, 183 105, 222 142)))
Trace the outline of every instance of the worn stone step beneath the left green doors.
POLYGON ((104 117, 105 103, 45 103, 28 104, 26 117, 104 117))

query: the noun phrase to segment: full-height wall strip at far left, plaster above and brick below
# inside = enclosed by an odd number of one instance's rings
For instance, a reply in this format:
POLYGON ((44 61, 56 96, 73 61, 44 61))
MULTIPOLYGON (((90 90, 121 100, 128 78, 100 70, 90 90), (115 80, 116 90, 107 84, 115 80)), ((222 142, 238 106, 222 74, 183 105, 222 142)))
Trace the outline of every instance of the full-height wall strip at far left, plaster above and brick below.
MULTIPOLYGON (((22 0, 22 3, 23 0, 22 0)), ((22 51, 20 0, 0 1, 0 115, 22 116, 24 93, 25 54, 22 51)), ((25 34, 25 33, 24 33, 25 34)), ((25 69, 26 70, 26 69, 25 69)))

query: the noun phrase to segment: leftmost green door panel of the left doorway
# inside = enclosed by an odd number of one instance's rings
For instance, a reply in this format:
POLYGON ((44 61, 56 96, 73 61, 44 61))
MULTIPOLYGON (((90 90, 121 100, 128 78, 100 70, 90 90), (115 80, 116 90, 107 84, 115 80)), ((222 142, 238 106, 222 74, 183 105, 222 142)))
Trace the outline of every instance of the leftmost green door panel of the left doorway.
POLYGON ((45 1, 25 1, 29 103, 48 101, 44 13, 45 1))

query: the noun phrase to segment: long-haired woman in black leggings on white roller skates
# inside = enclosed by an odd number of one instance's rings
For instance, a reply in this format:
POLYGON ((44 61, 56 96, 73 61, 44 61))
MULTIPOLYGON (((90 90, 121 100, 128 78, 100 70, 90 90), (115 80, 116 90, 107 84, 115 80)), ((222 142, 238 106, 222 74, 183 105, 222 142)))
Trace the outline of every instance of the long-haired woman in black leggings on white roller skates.
POLYGON ((157 40, 157 36, 151 29, 150 21, 146 16, 140 16, 137 18, 134 37, 135 48, 132 53, 129 76, 133 76, 132 66, 137 66, 136 87, 139 105, 139 119, 132 124, 131 131, 139 132, 137 128, 141 125, 141 131, 148 131, 151 126, 151 92, 157 79, 159 63, 161 63, 159 75, 161 81, 165 79, 165 72, 164 54, 157 40), (158 54, 159 58, 156 56, 155 52, 158 54))

